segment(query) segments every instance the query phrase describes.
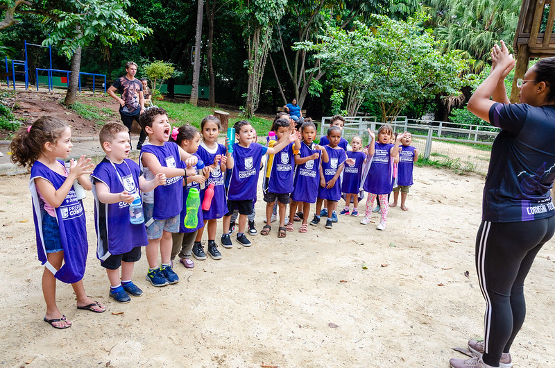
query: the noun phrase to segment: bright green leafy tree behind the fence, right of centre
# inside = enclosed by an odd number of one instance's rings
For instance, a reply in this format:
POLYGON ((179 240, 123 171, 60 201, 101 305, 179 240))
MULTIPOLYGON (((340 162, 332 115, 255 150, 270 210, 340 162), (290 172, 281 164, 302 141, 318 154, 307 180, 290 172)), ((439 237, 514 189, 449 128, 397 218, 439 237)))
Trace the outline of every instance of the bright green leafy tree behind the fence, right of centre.
POLYGON ((422 14, 406 22, 381 15, 372 20, 373 26, 356 22, 350 31, 328 28, 319 42, 296 44, 314 51, 334 84, 346 92, 349 115, 369 99, 379 104, 386 122, 409 101, 461 88, 464 60, 454 51, 441 52, 441 42, 421 26, 422 14))

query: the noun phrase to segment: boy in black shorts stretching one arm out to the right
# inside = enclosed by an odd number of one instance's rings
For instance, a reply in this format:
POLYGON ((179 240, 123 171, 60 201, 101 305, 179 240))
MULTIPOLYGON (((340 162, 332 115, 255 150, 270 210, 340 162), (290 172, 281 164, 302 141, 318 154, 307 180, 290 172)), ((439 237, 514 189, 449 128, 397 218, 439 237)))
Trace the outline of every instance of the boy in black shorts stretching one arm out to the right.
MULTIPOLYGON (((250 241, 245 236, 247 215, 253 212, 253 199, 256 198, 256 185, 262 156, 266 152, 275 154, 281 151, 289 142, 298 139, 298 133, 285 133, 275 147, 264 147, 262 144, 253 143, 253 127, 246 120, 235 123, 235 139, 233 153, 228 151, 228 169, 232 169, 230 188, 228 190, 228 213, 223 217, 223 235, 221 244, 226 248, 232 247, 230 235, 226 230, 230 226, 231 215, 235 208, 239 209, 239 228, 237 242, 243 246, 250 246, 250 241)), ((229 144, 229 142, 228 142, 229 144)))

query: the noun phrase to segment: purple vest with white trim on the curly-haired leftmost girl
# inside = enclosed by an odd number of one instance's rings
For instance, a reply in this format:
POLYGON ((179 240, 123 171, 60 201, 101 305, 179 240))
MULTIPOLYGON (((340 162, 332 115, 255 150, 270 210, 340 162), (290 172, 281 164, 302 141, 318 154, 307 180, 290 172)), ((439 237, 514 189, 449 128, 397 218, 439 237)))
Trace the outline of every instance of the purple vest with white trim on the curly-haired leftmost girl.
MULTIPOLYGON (((62 165, 64 162, 58 160, 62 165)), ((85 210, 83 203, 77 199, 74 187, 71 187, 60 207, 55 208, 56 219, 60 227, 60 240, 64 250, 64 264, 58 271, 48 262, 46 258, 46 247, 42 237, 42 217, 44 217, 43 202, 40 200, 35 187, 35 178, 44 178, 52 183, 56 190, 60 189, 66 181, 66 177, 53 172, 42 162, 35 161, 31 168, 31 181, 29 190, 33 199, 33 220, 35 221, 35 234, 37 235, 37 253, 40 262, 54 274, 58 280, 64 283, 76 283, 85 275, 87 264, 87 228, 85 221, 85 210)))

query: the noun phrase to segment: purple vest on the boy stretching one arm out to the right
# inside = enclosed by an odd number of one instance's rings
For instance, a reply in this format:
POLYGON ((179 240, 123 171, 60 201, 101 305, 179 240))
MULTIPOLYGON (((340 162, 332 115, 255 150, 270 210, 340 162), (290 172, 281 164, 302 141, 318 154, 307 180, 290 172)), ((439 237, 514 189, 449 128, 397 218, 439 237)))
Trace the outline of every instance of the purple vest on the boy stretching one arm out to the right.
POLYGON ((228 200, 244 201, 256 198, 260 163, 266 151, 268 151, 268 147, 258 143, 251 143, 248 148, 241 147, 239 143, 233 145, 234 164, 228 189, 228 200))

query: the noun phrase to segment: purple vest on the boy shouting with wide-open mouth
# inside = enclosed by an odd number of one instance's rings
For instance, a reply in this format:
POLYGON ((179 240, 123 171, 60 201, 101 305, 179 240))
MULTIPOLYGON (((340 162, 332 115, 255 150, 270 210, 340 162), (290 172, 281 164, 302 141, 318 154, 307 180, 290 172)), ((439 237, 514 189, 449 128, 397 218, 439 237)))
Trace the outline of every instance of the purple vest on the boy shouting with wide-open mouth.
MULTIPOLYGON (((164 167, 180 168, 182 167, 181 155, 179 147, 174 142, 164 142, 162 146, 154 144, 144 144, 141 148, 141 156, 143 153, 152 153, 156 156, 160 165, 164 167)), ((141 163, 142 165, 142 163, 141 163)), ((158 185, 154 189, 154 215, 155 220, 164 220, 179 215, 183 208, 183 176, 174 176, 167 178, 165 185, 158 185)))

